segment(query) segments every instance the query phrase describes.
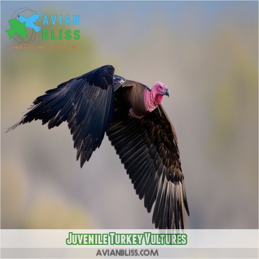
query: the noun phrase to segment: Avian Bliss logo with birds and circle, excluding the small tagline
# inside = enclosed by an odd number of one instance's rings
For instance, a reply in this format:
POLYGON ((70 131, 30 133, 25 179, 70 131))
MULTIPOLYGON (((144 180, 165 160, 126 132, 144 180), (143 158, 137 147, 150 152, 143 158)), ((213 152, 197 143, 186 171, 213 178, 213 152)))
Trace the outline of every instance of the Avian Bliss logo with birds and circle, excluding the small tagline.
POLYGON ((80 30, 64 30, 64 26, 79 25, 79 15, 68 14, 49 15, 37 14, 29 8, 17 10, 8 21, 10 28, 6 30, 9 38, 19 43, 30 44, 34 41, 36 34, 41 34, 41 39, 79 39, 80 30), (39 26, 40 25, 40 26, 39 26), (57 29, 57 26, 63 26, 57 29), (49 29, 49 27, 51 27, 49 29), (42 30, 41 30, 42 28, 42 30), (39 33, 40 32, 40 33, 39 33))

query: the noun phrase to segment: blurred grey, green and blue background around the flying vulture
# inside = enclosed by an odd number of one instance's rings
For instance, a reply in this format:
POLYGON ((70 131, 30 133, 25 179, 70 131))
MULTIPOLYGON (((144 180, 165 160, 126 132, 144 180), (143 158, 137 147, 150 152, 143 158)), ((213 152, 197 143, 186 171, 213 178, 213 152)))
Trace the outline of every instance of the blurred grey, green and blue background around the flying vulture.
POLYGON ((105 64, 168 85, 187 228, 258 228, 258 2, 1 2, 1 26, 1 228, 154 228, 107 137, 80 169, 66 123, 5 133, 37 96, 105 64), (79 49, 10 49, 24 7, 79 14, 79 40, 32 43, 79 49))

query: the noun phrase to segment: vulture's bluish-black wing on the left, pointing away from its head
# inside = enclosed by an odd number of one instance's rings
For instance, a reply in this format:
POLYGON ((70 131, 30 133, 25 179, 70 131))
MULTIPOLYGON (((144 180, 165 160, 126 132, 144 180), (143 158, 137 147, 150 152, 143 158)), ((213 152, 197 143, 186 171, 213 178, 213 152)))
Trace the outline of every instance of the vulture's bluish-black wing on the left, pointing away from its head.
POLYGON ((34 119, 48 122, 49 128, 67 121, 82 167, 100 147, 112 120, 113 73, 113 66, 103 66, 47 91, 10 130, 34 119))

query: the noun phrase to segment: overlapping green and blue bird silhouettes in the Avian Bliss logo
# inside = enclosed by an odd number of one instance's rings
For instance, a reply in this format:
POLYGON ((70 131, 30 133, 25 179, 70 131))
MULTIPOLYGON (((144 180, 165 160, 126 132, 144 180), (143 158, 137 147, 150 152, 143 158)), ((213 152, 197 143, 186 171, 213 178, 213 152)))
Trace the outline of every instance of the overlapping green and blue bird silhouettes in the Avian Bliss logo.
POLYGON ((9 20, 9 25, 11 29, 7 29, 9 37, 12 38, 16 33, 21 37, 25 38, 27 35, 26 28, 31 28, 36 32, 40 31, 40 26, 35 25, 34 23, 39 19, 41 14, 34 14, 29 16, 28 18, 18 15, 19 20, 11 19, 9 20))

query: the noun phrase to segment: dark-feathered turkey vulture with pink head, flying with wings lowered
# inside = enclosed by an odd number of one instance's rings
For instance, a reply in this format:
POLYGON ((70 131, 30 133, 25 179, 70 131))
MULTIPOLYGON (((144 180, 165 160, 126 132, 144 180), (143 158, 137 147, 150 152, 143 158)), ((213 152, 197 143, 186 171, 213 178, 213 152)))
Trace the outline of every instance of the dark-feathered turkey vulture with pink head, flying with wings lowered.
POLYGON ((185 229, 189 209, 174 126, 161 101, 165 84, 146 85, 114 75, 102 66, 61 83, 33 102, 9 130, 40 119, 48 127, 68 127, 80 166, 100 147, 106 133, 152 222, 159 229, 185 229))

